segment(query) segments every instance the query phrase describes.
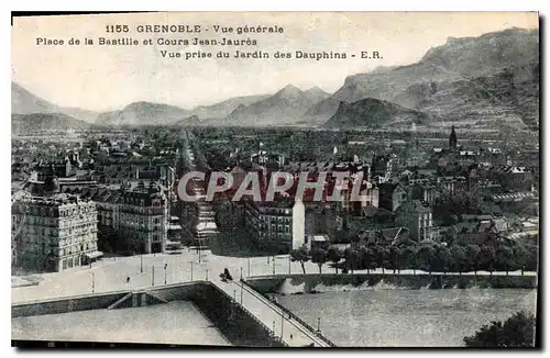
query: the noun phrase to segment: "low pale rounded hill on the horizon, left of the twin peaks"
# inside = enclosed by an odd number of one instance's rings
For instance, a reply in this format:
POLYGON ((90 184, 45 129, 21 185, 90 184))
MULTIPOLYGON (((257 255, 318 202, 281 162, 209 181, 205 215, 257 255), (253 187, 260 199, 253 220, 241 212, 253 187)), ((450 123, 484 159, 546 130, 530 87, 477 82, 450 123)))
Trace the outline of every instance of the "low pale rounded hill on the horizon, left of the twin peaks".
POLYGON ((189 115, 189 111, 175 105, 134 102, 120 111, 100 114, 96 124, 105 126, 173 124, 189 115))

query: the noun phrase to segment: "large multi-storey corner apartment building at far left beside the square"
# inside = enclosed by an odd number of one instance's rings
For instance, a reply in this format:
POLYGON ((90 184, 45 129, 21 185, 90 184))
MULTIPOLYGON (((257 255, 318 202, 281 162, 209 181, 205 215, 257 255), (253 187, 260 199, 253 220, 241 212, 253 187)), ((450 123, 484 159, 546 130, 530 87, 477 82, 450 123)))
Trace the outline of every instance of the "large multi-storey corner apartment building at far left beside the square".
POLYGON ((54 194, 12 203, 12 253, 24 268, 62 271, 88 265, 102 256, 97 242, 97 209, 91 200, 54 194))

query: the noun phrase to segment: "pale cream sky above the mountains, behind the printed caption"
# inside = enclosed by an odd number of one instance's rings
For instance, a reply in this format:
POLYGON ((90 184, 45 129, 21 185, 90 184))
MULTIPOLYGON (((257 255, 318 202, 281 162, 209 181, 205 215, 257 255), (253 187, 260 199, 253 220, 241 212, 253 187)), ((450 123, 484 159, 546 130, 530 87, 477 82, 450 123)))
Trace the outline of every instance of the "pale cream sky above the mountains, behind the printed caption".
POLYGON ((275 93, 287 85, 337 91, 344 79, 378 66, 408 65, 449 37, 479 36, 510 27, 537 29, 535 12, 202 12, 15 18, 12 26, 12 80, 62 107, 92 111, 150 101, 191 109, 250 94, 275 93), (127 24, 129 32, 107 33, 127 24), (201 33, 139 33, 139 25, 200 25, 201 33), (283 33, 216 33, 221 27, 279 26, 283 33), (208 31, 205 31, 208 29, 208 31), (68 45, 74 37, 80 45, 68 45), (84 38, 94 45, 84 45, 84 38), (100 46, 98 38, 131 38, 138 46, 100 46), (255 40, 256 46, 161 46, 163 40, 255 40), (37 45, 37 38, 63 40, 37 45), (153 45, 142 42, 151 38, 153 45), (163 58, 161 51, 211 52, 215 58, 163 58), (270 59, 216 58, 220 49, 270 53, 270 59), (346 59, 280 59, 279 51, 348 53, 346 59), (383 58, 362 59, 362 51, 383 58), (356 54, 356 57, 350 57, 356 54))

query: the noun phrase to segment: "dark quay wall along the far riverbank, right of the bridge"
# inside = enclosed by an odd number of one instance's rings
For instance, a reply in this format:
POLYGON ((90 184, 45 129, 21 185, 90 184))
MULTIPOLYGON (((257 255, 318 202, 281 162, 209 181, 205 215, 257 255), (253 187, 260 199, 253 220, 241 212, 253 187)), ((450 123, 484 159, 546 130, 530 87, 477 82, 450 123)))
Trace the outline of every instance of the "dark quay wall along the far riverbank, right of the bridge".
POLYGON ((262 294, 300 294, 376 289, 535 289, 537 288, 537 277, 443 273, 308 273, 249 277, 246 283, 262 294))

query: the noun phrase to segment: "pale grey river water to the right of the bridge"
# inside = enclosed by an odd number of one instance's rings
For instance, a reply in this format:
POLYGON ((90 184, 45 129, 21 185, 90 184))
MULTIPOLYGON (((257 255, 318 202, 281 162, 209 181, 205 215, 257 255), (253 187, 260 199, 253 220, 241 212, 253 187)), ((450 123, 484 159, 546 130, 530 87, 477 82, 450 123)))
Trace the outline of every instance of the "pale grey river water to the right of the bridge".
POLYGON ((536 312, 536 290, 358 290, 278 302, 343 347, 461 347, 484 324, 536 312))

